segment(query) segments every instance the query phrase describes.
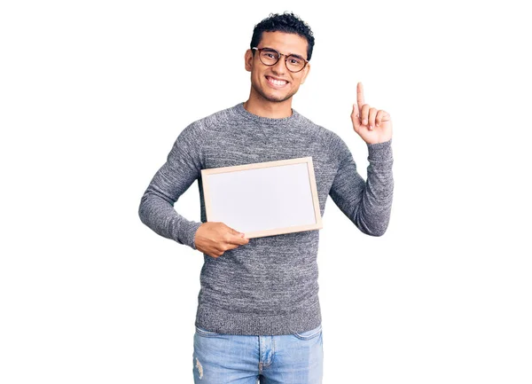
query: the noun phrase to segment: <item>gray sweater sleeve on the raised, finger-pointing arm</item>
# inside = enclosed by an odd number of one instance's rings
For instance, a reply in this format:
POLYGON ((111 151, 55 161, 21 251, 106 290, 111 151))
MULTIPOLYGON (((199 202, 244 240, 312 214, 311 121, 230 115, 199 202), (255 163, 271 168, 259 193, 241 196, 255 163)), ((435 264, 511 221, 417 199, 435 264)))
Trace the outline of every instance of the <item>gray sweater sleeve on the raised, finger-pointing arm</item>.
POLYGON ((340 165, 329 194, 349 220, 371 236, 382 236, 390 218, 394 191, 391 142, 367 145, 370 165, 364 182, 348 146, 338 137, 336 153, 340 165))

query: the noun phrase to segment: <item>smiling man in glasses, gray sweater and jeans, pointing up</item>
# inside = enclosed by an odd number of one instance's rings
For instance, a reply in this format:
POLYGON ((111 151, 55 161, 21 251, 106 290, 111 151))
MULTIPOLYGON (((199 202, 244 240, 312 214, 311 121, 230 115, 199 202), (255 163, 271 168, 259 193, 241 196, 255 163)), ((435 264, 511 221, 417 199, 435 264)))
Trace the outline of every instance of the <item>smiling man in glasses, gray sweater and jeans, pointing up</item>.
POLYGON ((330 195, 360 231, 380 236, 387 229, 390 116, 365 104, 358 83, 351 120, 368 145, 364 182, 344 141, 292 109, 313 46, 309 26, 293 13, 270 14, 256 25, 245 54, 249 98, 187 126, 142 197, 143 223, 204 254, 194 334, 197 383, 307 384, 320 383, 323 375, 319 231, 246 239, 224 223, 207 222, 201 169, 311 156, 322 216, 330 195), (173 208, 196 179, 201 223, 173 208))

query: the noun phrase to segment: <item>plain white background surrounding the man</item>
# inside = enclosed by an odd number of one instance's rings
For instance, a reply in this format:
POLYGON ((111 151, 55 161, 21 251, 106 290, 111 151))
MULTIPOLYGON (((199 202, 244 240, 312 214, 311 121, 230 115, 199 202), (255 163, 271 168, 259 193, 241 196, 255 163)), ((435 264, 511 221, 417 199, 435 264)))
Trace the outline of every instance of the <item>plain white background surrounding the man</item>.
MULTIPOLYGON (((0 381, 189 383, 203 256, 140 222, 179 132, 245 101, 254 25, 316 36, 293 107, 366 176, 356 82, 394 121, 387 233, 329 199, 325 384, 532 382, 529 13, 517 1, 0 5, 0 381)), ((197 183, 176 209, 200 221, 197 183)))

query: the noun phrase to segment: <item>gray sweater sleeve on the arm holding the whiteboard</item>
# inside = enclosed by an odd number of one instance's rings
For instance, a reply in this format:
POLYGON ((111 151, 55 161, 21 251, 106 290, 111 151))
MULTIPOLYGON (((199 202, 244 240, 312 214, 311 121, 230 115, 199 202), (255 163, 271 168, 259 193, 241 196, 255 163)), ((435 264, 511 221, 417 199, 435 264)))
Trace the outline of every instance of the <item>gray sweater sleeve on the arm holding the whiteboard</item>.
POLYGON ((167 161, 145 190, 138 216, 153 231, 167 239, 196 249, 194 237, 200 222, 179 215, 174 203, 200 177, 202 137, 200 126, 192 123, 179 134, 167 161))

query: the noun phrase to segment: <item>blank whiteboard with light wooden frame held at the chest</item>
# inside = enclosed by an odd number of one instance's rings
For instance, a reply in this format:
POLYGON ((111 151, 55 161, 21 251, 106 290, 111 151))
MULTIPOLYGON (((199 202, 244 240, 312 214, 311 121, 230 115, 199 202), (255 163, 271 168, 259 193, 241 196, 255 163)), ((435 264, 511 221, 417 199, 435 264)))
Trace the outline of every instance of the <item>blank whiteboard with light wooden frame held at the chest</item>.
POLYGON ((323 228, 312 157, 201 169, 207 222, 260 238, 323 228))

